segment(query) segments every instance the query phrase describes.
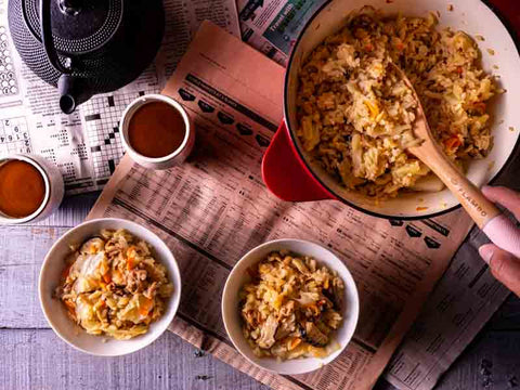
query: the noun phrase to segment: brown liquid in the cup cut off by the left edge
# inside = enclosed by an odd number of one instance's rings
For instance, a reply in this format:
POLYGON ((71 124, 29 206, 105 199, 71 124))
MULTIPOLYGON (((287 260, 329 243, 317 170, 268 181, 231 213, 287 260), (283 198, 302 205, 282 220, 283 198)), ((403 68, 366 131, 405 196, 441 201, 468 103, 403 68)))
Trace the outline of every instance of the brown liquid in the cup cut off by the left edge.
POLYGON ((0 212, 11 218, 34 213, 46 197, 46 182, 31 164, 11 160, 0 165, 0 212))

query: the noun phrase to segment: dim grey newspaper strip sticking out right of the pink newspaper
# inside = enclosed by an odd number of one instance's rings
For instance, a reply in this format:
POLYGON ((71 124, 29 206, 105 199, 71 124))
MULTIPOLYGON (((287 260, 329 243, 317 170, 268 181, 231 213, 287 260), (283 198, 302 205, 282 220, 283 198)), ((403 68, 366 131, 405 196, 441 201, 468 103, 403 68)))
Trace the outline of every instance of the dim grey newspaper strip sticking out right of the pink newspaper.
POLYGON ((385 379, 401 390, 430 390, 510 295, 478 253, 477 227, 426 301, 385 379))

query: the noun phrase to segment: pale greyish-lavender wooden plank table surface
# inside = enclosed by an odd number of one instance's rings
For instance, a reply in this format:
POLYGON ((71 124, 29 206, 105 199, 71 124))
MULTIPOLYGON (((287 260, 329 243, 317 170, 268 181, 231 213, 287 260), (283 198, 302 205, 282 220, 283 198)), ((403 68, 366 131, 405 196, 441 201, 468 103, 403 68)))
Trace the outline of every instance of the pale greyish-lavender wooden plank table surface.
MULTIPOLYGON (((123 358, 80 353, 54 335, 37 296, 52 243, 81 222, 98 194, 65 199, 34 225, 0 227, 0 389, 266 389, 171 333, 123 358)), ((510 297, 442 378, 438 389, 520 389, 520 299, 510 297)), ((390 390, 384 380, 378 390, 390 390)))

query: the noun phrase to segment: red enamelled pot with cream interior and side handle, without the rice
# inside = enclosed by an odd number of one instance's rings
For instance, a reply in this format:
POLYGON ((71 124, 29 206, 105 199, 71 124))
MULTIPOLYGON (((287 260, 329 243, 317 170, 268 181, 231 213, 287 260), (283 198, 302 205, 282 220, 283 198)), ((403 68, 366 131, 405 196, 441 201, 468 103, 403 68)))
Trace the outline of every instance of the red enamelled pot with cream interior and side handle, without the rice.
POLYGON ((454 10, 448 11, 451 3, 446 0, 334 0, 325 3, 314 14, 303 27, 290 54, 285 78, 285 119, 262 161, 263 180, 274 195, 288 202, 336 199, 363 212, 388 219, 431 218, 459 207, 447 188, 440 192, 402 193, 396 198, 384 202, 349 192, 311 161, 296 135, 298 72, 302 62, 320 42, 344 25, 346 15, 364 5, 381 9, 387 14, 402 12, 405 15, 427 15, 430 11, 439 11, 440 28, 450 26, 454 30, 485 38, 485 41, 478 42, 483 68, 499 74, 499 82, 507 93, 495 99, 492 106, 493 150, 485 159, 469 164, 467 177, 481 186, 503 171, 519 143, 520 56, 516 44, 517 35, 511 29, 515 39, 511 37, 498 16, 496 5, 512 16, 511 22, 517 31, 520 31, 520 3, 494 0, 494 4, 489 4, 481 0, 459 0, 454 3, 454 10), (493 49, 495 54, 487 49, 493 49))

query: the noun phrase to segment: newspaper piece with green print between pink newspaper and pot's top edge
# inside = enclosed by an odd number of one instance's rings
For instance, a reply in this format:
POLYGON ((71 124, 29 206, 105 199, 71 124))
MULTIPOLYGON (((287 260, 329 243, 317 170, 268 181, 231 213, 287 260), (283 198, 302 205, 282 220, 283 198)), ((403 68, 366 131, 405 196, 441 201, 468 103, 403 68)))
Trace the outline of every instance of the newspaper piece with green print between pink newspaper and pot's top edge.
POLYGON ((242 39, 281 65, 307 21, 326 0, 237 0, 242 39))

